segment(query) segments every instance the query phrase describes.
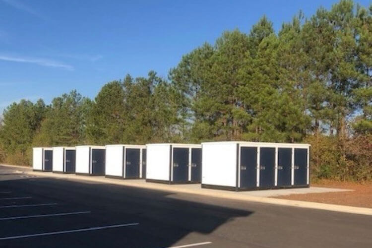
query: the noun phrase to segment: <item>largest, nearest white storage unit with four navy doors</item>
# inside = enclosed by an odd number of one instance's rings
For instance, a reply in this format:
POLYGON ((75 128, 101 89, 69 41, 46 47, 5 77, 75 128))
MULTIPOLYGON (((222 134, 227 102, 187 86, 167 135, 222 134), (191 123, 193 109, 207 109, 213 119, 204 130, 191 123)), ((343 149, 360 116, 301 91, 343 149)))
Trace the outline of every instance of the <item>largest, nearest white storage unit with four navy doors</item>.
POLYGON ((202 143, 201 186, 228 190, 309 186, 309 144, 202 143))

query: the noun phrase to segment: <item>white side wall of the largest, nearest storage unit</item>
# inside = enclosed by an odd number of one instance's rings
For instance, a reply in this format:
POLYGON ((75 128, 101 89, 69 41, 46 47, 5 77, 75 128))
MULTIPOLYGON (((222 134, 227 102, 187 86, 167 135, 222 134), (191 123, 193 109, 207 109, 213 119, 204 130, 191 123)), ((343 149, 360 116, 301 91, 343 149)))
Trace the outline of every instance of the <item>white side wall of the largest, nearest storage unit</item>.
POLYGON ((236 186, 237 143, 202 143, 201 183, 236 186))

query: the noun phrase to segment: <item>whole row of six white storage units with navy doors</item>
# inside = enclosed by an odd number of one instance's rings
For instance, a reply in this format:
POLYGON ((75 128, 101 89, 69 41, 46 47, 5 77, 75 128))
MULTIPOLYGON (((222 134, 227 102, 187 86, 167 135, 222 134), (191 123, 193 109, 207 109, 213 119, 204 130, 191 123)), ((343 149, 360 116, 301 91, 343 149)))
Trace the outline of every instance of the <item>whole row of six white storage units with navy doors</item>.
POLYGON ((249 190, 309 186, 309 144, 205 142, 33 148, 33 169, 249 190))

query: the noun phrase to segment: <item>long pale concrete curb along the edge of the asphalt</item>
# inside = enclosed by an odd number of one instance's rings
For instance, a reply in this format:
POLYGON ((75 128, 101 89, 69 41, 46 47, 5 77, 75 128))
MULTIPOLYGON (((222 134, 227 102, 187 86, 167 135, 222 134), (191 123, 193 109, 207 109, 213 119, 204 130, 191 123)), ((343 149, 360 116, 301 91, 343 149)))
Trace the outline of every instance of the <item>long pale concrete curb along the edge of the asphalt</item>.
MULTIPOLYGON (((30 168, 30 167, 11 166, 11 165, 3 165, 3 166, 30 168)), ((118 180, 118 179, 109 179, 109 178, 102 179, 102 178, 80 176, 80 175, 77 176, 74 174, 53 174, 51 172, 25 171, 24 173, 35 175, 35 176, 41 176, 41 177, 52 177, 52 178, 60 178, 60 179, 67 179, 67 180, 85 180, 85 181, 90 181, 90 182, 98 182, 98 183, 130 186, 130 187, 139 187, 139 188, 146 188, 146 189, 152 189, 152 190, 212 196, 212 197, 231 199, 231 200, 268 203, 268 204, 276 204, 276 205, 281 205, 281 206, 311 208, 311 209, 327 210, 327 211, 343 212, 343 213, 351 213, 351 214, 372 215, 372 208, 260 197, 260 196, 239 194, 239 192, 235 192, 235 191, 223 191, 223 190, 206 189, 206 188, 203 188, 203 189, 200 188, 200 189, 195 190, 195 189, 190 189, 190 188, 183 188, 181 186, 169 186, 169 185, 162 185, 162 184, 155 184, 155 183, 138 184, 138 181, 130 182, 130 181, 118 180)))

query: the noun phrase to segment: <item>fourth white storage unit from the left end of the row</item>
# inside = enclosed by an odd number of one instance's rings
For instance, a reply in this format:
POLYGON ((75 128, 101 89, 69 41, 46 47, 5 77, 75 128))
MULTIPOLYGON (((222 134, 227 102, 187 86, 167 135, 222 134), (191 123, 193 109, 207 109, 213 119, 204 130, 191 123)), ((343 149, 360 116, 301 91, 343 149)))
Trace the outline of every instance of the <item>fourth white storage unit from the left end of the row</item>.
POLYGON ((106 177, 143 178, 143 150, 144 145, 106 145, 106 177))

